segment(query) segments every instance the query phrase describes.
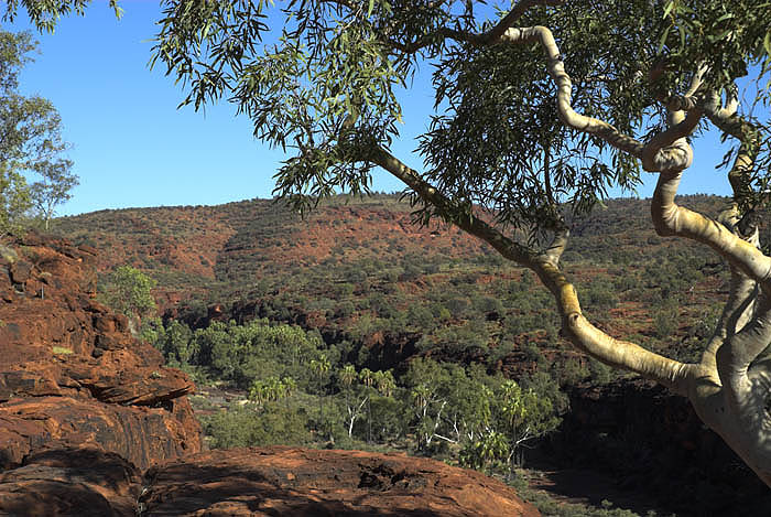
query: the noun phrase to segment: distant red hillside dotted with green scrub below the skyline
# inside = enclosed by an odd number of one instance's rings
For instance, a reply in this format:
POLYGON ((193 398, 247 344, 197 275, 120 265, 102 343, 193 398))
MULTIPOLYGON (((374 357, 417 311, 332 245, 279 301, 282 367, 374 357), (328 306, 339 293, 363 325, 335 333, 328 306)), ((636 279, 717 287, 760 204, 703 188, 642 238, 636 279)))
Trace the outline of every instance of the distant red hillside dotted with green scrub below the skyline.
MULTIPOLYGON (((682 202, 709 214, 725 205, 716 196, 682 202)), ((604 327, 694 356, 717 315, 725 267, 703 246, 655 236, 649 206, 611 200, 576 222, 563 262, 604 327)), ((268 316, 370 351, 436 349, 503 368, 532 343, 562 348, 553 302, 532 274, 454 227, 413 224, 394 195, 340 196, 305 220, 252 200, 101 211, 57 219, 55 230, 100 249, 100 273, 123 263, 148 272, 163 310, 182 308, 192 323, 268 316)))

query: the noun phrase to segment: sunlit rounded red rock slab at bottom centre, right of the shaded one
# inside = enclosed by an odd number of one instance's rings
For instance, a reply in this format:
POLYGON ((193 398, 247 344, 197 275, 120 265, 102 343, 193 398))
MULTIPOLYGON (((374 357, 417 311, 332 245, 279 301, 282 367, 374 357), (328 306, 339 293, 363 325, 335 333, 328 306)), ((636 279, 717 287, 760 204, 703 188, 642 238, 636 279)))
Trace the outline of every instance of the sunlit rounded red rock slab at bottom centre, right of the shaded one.
POLYGON ((211 451, 153 467, 145 480, 145 515, 540 515, 511 487, 478 472, 361 451, 211 451))

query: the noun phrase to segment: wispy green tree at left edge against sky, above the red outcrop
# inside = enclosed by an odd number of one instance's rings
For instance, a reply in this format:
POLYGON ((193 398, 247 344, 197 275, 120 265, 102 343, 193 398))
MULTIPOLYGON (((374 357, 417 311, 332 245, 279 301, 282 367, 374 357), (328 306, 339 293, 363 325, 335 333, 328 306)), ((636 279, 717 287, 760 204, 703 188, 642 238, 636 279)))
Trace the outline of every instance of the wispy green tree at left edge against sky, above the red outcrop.
POLYGON ((48 228, 77 176, 51 101, 19 94, 19 73, 36 47, 30 33, 0 31, 0 233, 19 234, 40 215, 48 228), (29 180, 40 180, 30 184, 29 180), (37 214, 35 214, 35 208, 37 214))

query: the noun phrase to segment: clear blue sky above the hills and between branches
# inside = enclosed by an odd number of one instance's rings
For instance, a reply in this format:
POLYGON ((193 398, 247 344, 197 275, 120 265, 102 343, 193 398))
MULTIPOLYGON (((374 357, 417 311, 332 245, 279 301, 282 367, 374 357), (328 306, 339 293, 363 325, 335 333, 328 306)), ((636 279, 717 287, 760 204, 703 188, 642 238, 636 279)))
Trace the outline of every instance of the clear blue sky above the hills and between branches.
MULTIPOLYGON (((286 157, 257 141, 250 121, 236 118, 227 103, 207 108, 205 116, 192 108, 177 110, 181 87, 160 67, 148 68, 159 2, 124 0, 121 6, 120 21, 107 1, 97 1, 85 17, 63 19, 53 35, 34 32, 41 54, 23 72, 22 91, 48 98, 59 110, 80 177, 58 214, 270 197, 272 175, 286 157)), ((24 19, 20 13, 17 23, 2 28, 29 29, 24 19)), ((433 106, 428 74, 424 67, 404 96, 403 139, 393 147, 414 168, 421 160, 412 154, 413 139, 426 127, 433 106)), ((695 151, 681 192, 727 195, 725 173, 714 170, 725 147, 713 137, 699 140, 695 151)), ((654 181, 648 175, 639 194, 650 196, 654 181)), ((392 192, 402 185, 378 172, 374 189, 392 192)))

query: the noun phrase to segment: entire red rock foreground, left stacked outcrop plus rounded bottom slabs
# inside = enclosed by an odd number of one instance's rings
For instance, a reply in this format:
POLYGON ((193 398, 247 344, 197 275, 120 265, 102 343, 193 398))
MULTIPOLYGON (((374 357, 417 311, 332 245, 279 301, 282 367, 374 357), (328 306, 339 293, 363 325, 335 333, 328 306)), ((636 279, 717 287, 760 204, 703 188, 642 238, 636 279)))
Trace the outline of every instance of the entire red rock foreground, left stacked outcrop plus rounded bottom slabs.
POLYGON ((95 258, 32 233, 0 239, 0 515, 540 515, 427 459, 202 449, 195 386, 94 300, 95 258))

